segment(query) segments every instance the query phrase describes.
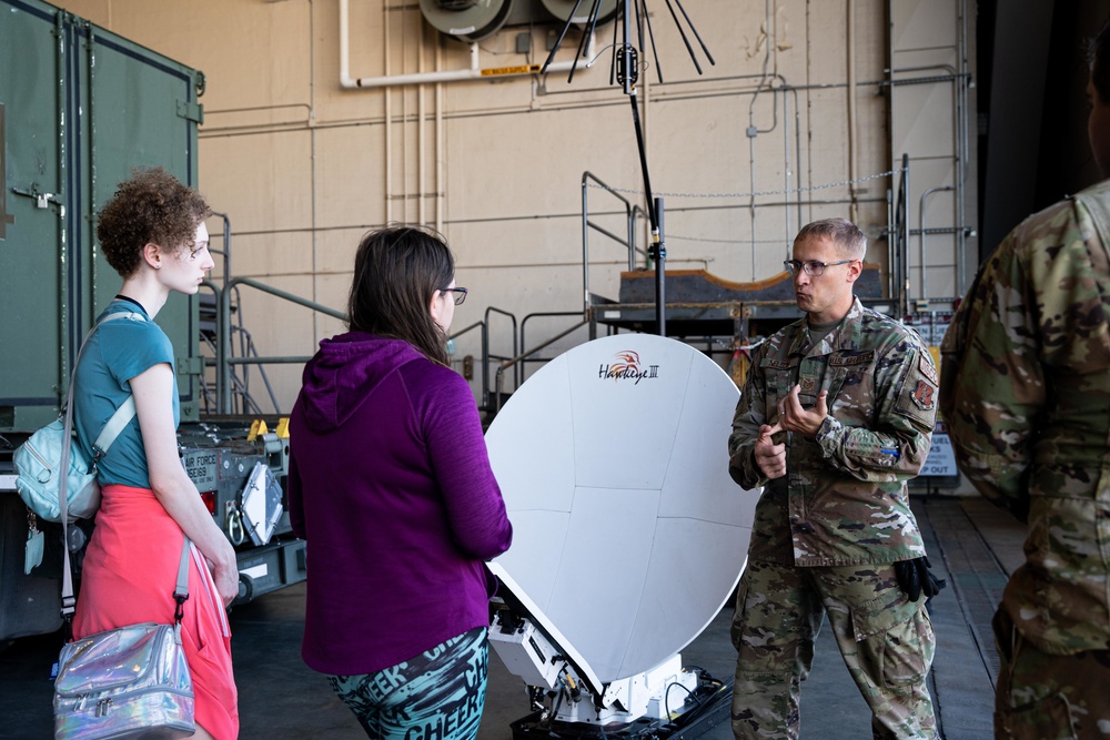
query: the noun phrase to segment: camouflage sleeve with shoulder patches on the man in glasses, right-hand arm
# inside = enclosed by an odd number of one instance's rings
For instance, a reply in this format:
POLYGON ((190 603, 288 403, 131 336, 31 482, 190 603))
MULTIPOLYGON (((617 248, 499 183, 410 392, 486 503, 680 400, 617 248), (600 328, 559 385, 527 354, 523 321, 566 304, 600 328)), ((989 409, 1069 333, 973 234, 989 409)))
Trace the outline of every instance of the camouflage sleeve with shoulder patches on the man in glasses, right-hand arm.
POLYGON ((879 358, 875 428, 847 426, 827 416, 817 432, 826 462, 871 483, 915 477, 929 456, 937 416, 937 382, 925 345, 909 336, 899 341, 879 358))

